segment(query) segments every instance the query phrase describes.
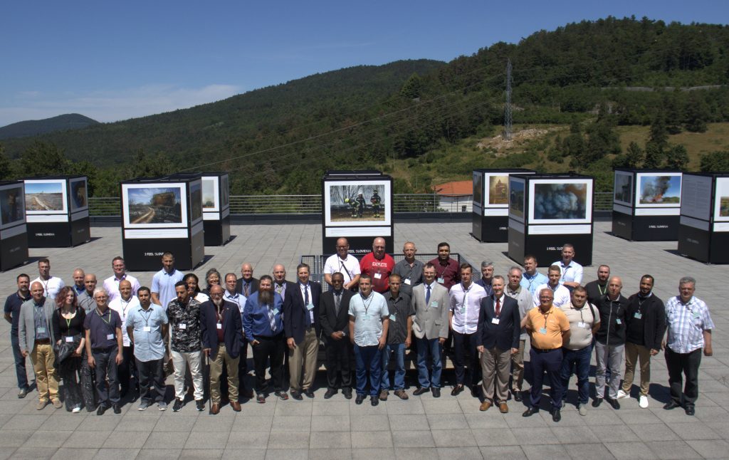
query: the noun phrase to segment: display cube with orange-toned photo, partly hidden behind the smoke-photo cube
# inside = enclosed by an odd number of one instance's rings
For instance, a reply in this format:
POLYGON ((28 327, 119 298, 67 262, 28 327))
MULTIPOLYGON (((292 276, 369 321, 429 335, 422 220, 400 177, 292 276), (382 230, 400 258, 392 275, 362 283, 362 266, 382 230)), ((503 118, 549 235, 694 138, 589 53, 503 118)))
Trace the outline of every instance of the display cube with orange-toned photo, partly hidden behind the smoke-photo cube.
POLYGON ((473 171, 473 230, 483 243, 509 241, 509 176, 534 174, 529 169, 475 169, 473 171))

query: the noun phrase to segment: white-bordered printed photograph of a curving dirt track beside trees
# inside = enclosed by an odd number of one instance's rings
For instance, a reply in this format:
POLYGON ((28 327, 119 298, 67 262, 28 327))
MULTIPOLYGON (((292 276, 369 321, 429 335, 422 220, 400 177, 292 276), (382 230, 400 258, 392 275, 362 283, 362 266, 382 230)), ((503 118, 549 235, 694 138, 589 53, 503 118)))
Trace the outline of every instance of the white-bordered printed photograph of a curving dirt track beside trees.
POLYGON ((122 211, 128 228, 187 227, 185 185, 122 184, 122 211))

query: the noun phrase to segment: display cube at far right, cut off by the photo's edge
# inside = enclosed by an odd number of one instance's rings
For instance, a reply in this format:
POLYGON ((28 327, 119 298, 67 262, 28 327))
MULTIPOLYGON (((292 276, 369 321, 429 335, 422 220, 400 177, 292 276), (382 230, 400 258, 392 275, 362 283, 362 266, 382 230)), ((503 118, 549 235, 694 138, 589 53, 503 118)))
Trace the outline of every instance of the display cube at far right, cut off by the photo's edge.
POLYGON ((684 173, 678 252, 701 262, 729 263, 728 173, 684 173))

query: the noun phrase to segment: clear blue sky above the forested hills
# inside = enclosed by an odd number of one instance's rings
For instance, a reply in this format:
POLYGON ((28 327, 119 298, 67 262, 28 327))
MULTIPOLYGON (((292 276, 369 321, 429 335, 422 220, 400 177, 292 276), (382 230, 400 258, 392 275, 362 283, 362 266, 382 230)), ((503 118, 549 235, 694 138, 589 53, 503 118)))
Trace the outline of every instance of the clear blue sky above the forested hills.
POLYGON ((451 61, 607 15, 716 23, 729 17, 729 4, 7 1, 0 7, 0 126, 71 112, 125 120, 348 66, 451 61))

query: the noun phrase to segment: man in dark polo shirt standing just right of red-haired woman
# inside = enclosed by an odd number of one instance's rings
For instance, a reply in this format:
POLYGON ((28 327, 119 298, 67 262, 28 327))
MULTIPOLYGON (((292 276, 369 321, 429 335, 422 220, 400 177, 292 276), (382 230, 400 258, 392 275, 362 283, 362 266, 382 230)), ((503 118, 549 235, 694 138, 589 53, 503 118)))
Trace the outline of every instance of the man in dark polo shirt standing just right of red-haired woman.
POLYGON ((119 313, 109 309, 109 295, 104 288, 93 292, 96 308, 86 316, 86 354, 89 367, 96 370, 96 394, 98 396, 97 416, 104 415, 109 405, 114 413, 122 413, 119 405, 118 366, 124 360, 122 355, 122 319, 119 313), (109 390, 106 390, 109 379, 109 390))

